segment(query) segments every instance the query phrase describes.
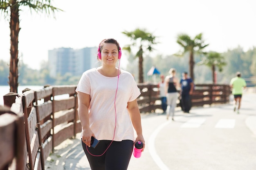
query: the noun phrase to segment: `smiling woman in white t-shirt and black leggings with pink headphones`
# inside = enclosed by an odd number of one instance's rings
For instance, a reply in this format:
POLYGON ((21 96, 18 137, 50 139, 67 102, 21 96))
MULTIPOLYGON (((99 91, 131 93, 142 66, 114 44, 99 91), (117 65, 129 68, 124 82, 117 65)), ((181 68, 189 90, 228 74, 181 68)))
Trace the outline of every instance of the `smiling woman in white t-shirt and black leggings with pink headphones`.
POLYGON ((127 170, 134 144, 140 141, 142 151, 145 148, 137 104, 140 91, 129 72, 116 68, 120 58, 115 39, 101 41, 102 66, 85 71, 76 88, 82 146, 92 170, 127 170), (91 137, 99 140, 96 148, 90 147, 91 137))

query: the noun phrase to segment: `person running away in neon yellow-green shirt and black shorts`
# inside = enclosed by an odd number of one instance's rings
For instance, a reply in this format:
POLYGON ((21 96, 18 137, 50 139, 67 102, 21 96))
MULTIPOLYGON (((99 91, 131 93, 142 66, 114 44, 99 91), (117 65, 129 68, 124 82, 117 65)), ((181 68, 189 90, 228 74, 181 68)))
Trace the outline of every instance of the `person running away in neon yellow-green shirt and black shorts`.
POLYGON ((246 88, 245 79, 241 78, 240 72, 236 72, 236 77, 231 79, 229 86, 232 88, 232 94, 234 95, 234 111, 236 111, 236 106, 238 104, 237 113, 239 114, 243 89, 246 88))

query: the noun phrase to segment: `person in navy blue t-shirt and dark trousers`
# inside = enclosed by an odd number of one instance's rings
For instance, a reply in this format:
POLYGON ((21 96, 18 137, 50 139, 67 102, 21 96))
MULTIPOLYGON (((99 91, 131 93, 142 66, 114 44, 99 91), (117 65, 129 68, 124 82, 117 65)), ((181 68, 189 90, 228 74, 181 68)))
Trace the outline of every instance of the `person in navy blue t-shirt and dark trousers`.
POLYGON ((191 78, 188 78, 188 73, 182 73, 182 79, 180 80, 180 105, 184 113, 189 113, 191 109, 191 95, 193 94, 194 83, 191 78))

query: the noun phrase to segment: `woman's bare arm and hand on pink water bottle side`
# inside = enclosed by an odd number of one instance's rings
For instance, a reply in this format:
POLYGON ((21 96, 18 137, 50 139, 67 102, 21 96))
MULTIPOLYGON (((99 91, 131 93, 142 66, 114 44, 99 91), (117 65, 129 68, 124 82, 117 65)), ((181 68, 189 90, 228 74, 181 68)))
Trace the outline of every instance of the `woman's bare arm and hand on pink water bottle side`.
POLYGON ((145 148, 145 140, 142 135, 141 117, 140 117, 137 99, 133 100, 132 102, 128 102, 127 110, 130 115, 132 125, 137 133, 137 137, 134 143, 136 143, 137 141, 142 142, 143 143, 142 151, 143 151, 145 148))

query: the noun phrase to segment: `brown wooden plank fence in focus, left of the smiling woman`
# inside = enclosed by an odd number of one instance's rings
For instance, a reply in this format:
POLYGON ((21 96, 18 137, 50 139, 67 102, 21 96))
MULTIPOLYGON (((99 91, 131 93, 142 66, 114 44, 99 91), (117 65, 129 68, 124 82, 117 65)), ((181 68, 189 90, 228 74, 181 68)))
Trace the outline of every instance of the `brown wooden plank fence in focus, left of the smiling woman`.
MULTIPOLYGON (((20 159, 25 166, 16 170, 44 170, 45 161, 54 152, 54 147, 81 131, 75 88, 72 85, 51 86, 37 91, 25 89, 21 95, 9 93, 4 96, 4 105, 11 106, 13 98, 17 97, 15 104, 19 103, 23 109, 25 135, 16 140, 26 141, 22 147, 24 156, 20 159)), ((10 167, 11 162, 7 163, 10 167)), ((8 170, 8 167, 0 166, 0 170, 8 170)))

